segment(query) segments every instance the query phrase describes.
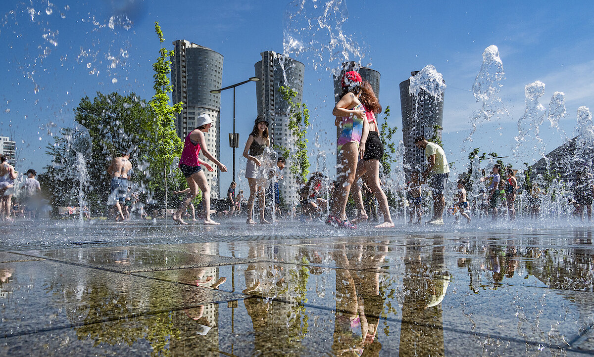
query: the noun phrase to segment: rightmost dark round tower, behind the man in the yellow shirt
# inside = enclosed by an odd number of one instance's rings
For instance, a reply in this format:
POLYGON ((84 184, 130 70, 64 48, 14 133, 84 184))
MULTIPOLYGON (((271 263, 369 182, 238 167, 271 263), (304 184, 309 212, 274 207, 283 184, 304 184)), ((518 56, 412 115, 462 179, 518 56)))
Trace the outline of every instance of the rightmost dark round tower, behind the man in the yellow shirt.
MULTIPOLYGON (((415 76, 419 71, 410 72, 415 76)), ((444 81, 445 83, 445 81, 444 81)), ((436 98, 425 90, 418 97, 409 93, 410 79, 400 83, 400 108, 402 109, 402 139, 405 144, 405 173, 410 177, 412 170, 425 170, 425 155, 415 145, 415 138, 424 135, 430 141, 434 135, 441 139, 443 127, 444 97, 436 98)))

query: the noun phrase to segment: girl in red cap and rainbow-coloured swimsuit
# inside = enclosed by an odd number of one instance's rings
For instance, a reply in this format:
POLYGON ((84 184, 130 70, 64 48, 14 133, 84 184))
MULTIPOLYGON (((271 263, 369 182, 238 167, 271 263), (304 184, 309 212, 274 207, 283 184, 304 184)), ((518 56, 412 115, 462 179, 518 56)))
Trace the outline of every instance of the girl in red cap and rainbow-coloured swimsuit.
POLYGON ((361 75, 357 72, 346 72, 342 77, 342 95, 332 111, 336 116, 334 125, 338 127, 336 155, 340 164, 326 224, 339 228, 357 228, 356 224, 346 219, 346 202, 350 187, 355 181, 357 161, 365 154, 365 142, 369 132, 365 109, 359 101, 361 82, 361 75))

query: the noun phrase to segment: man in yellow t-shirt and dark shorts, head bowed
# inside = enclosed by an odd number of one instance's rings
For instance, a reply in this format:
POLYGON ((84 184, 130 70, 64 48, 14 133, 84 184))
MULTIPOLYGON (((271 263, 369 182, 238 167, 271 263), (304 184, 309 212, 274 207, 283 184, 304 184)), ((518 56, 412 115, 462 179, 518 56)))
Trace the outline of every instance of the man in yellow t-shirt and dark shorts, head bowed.
POLYGON ((445 185, 450 176, 450 166, 445 158, 444 149, 434 142, 429 142, 425 136, 417 136, 415 145, 424 149, 427 169, 422 173, 425 182, 429 183, 433 195, 433 217, 428 224, 444 224, 443 213, 445 207, 445 185))

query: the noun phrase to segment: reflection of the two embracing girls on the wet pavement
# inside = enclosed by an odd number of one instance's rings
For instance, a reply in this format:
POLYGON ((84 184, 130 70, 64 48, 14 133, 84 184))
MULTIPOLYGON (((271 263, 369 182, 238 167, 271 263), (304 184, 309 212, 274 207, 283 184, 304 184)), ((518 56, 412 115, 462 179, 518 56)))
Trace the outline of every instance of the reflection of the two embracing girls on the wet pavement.
POLYGON ((369 250, 364 246, 337 248, 333 257, 340 269, 336 269, 332 350, 337 356, 379 355, 377 332, 384 298, 377 270, 386 258, 387 246, 378 244, 369 250))

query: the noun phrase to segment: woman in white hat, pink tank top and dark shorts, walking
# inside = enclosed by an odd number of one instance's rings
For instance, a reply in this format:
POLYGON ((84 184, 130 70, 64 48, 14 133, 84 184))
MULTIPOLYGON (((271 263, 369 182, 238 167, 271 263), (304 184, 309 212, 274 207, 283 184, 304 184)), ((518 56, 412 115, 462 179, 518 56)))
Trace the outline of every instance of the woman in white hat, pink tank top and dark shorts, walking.
POLYGON ((201 160, 198 157, 200 149, 204 157, 214 162, 219 167, 219 170, 226 172, 227 168, 219 160, 217 160, 208 150, 206 149, 206 140, 204 139, 204 133, 210 129, 213 125, 213 120, 210 119, 208 114, 201 114, 196 120, 196 129, 188 133, 184 141, 184 149, 182 155, 179 158, 179 170, 184 174, 188 183, 189 192, 185 199, 179 205, 178 211, 173 213, 173 221, 179 224, 188 224, 182 219, 186 208, 192 200, 198 195, 198 187, 202 191, 202 199, 204 202, 204 224, 219 224, 210 219, 210 186, 206 180, 206 175, 202 170, 202 166, 206 167, 208 171, 214 171, 213 167, 208 162, 201 160))

